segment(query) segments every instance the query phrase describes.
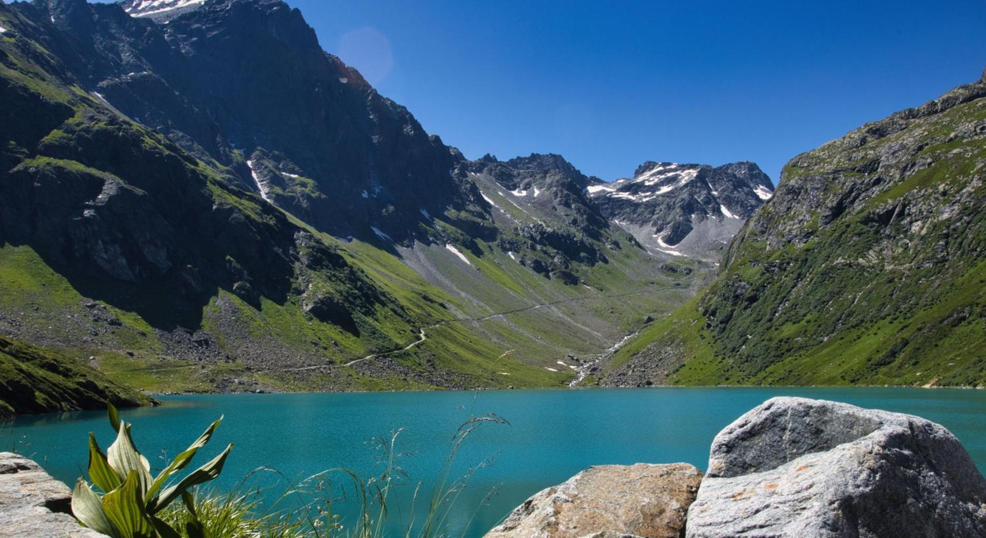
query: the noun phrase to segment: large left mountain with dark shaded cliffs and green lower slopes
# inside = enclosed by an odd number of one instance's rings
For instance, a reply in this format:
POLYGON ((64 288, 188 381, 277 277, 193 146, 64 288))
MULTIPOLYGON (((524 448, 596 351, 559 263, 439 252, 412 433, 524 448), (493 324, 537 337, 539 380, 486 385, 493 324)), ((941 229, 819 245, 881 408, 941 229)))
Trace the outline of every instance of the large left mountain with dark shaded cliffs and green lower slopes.
POLYGON ((0 333, 134 386, 564 386, 709 269, 560 157, 464 159, 283 2, 0 28, 0 333))

